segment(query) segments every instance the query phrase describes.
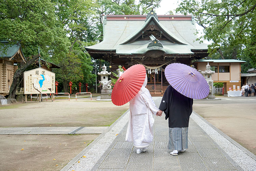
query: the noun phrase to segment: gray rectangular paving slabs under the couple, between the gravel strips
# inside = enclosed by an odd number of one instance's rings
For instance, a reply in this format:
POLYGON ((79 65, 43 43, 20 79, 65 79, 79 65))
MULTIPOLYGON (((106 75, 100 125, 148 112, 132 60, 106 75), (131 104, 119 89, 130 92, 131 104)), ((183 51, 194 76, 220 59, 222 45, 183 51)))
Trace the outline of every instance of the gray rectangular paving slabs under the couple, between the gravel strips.
MULTIPOLYGON (((160 99, 157 99, 157 106, 160 99)), ((189 121, 188 149, 172 156, 168 148, 168 122, 155 116, 154 140, 147 151, 136 154, 133 144, 125 141, 126 129, 110 152, 96 164, 98 171, 217 171, 241 170, 236 163, 194 122, 189 121)))

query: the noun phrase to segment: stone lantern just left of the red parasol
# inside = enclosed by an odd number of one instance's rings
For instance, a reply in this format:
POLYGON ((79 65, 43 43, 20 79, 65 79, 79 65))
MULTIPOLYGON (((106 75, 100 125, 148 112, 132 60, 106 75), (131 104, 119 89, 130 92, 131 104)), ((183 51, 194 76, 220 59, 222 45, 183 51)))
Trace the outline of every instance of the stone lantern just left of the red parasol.
POLYGON ((98 75, 100 75, 100 84, 102 85, 100 99, 111 99, 112 86, 110 85, 111 80, 109 80, 111 72, 106 71, 105 64, 102 67, 102 71, 98 72, 98 75))

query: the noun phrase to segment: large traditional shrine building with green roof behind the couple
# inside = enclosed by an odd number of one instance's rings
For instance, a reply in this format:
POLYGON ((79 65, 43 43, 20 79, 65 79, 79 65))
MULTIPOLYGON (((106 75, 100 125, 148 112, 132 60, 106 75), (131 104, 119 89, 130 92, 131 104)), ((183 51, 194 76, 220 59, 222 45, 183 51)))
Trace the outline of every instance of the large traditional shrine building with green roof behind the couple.
MULTIPOLYGON (((152 95, 162 94, 169 83, 164 69, 174 62, 191 65, 192 60, 208 56, 208 47, 197 41, 191 15, 105 15, 103 41, 85 47, 94 59, 104 59, 115 72, 142 64, 147 71, 147 88, 152 95)), ((185 86, 185 85, 184 85, 185 86)))

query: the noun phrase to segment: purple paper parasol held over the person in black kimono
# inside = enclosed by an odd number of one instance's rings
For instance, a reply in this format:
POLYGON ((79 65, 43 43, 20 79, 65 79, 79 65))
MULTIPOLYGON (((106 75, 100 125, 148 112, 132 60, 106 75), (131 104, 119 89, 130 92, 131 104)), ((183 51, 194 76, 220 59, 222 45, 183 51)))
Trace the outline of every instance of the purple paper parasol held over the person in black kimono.
POLYGON ((207 81, 195 68, 182 63, 171 63, 165 68, 165 77, 176 91, 186 97, 203 99, 209 95, 207 81))

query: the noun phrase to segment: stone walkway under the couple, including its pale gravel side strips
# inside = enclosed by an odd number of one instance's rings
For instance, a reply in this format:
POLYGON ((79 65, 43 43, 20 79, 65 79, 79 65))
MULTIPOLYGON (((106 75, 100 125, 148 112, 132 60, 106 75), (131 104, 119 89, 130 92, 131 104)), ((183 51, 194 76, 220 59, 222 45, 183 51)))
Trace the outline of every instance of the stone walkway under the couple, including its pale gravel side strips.
MULTIPOLYGON (((161 98, 154 98, 156 105, 159 106, 161 98)), ((198 119, 193 114, 194 119, 198 119)), ((218 170, 256 170, 255 156, 250 157, 243 151, 238 156, 242 156, 241 160, 245 163, 239 163, 231 158, 230 153, 226 153, 221 146, 219 146, 191 117, 188 129, 188 149, 179 153, 177 156, 170 155, 170 150, 167 148, 168 144, 168 122, 165 120, 164 114, 162 117, 155 116, 154 124, 154 141, 151 143, 145 153, 136 154, 136 148, 133 144, 125 141, 127 117, 128 114, 120 119, 123 123, 123 128, 116 134, 116 138, 106 137, 100 144, 90 144, 88 151, 85 150, 81 153, 80 157, 69 163, 69 166, 62 169, 64 170, 92 170, 92 171, 218 171, 218 170), (124 121, 126 120, 126 121, 124 121), (125 124, 124 124, 125 123, 125 124), (106 145, 107 139, 112 138, 110 144, 106 145), (104 148, 101 146, 105 145, 104 148), (108 148, 106 148, 108 147, 108 148), (104 153, 100 153, 105 150, 104 153), (95 153, 99 153, 99 158, 95 153), (85 155, 87 158, 81 158, 85 155), (77 162, 79 161, 79 162, 77 162), (242 167, 241 167, 242 166, 242 167)), ((120 123, 119 123, 120 124, 120 123)), ((121 124, 122 125, 122 124, 121 124)), ((114 126, 115 127, 115 126, 114 126)), ((117 128, 112 128, 108 132, 116 133, 117 128)), ((120 128, 120 125, 117 127, 120 128)), ((210 129, 210 128, 209 128, 210 129)), ((213 130, 214 131, 214 130, 213 130)), ((215 135, 213 133, 213 135, 215 135)), ((223 138, 222 135, 219 139, 223 138)), ((104 137, 104 136, 103 136, 104 137)), ((225 139, 226 140, 226 139, 225 139)), ((237 150, 237 146, 233 147, 233 140, 225 141, 219 144, 226 143, 228 148, 225 150, 237 150)), ((225 145, 225 144, 224 144, 225 145)), ((240 148, 239 148, 240 149, 240 148)))

